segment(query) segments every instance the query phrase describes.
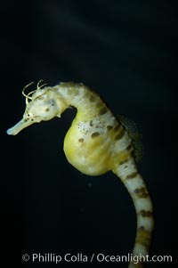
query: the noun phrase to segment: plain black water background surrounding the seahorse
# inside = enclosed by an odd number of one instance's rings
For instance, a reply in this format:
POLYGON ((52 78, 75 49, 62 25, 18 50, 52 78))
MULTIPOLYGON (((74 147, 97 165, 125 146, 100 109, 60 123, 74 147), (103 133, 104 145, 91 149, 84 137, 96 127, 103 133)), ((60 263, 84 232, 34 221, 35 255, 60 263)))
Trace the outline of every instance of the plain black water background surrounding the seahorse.
POLYGON ((1 262, 33 267, 21 256, 38 252, 116 256, 132 252, 134 244, 134 206, 122 183, 112 173, 82 175, 65 158, 63 139, 75 110, 17 136, 5 133, 24 112, 23 86, 44 79, 49 85, 83 82, 115 114, 133 118, 140 127, 145 154, 139 168, 156 219, 150 255, 171 255, 177 263, 178 24, 173 3, 1 3, 1 262))

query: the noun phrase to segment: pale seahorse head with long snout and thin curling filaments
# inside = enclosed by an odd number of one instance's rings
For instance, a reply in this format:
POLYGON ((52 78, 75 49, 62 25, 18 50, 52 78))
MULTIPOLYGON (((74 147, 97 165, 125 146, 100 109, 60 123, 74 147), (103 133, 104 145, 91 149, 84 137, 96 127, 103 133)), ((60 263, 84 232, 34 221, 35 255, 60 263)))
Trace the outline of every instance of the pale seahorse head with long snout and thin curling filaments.
POLYGON ((47 121, 56 116, 60 117, 61 107, 56 98, 54 98, 52 87, 46 86, 42 88, 44 85, 39 86, 41 81, 38 82, 36 90, 28 94, 25 93, 25 89, 33 82, 23 88, 22 94, 26 97, 26 109, 23 118, 15 126, 9 128, 7 134, 15 135, 34 123, 47 121))

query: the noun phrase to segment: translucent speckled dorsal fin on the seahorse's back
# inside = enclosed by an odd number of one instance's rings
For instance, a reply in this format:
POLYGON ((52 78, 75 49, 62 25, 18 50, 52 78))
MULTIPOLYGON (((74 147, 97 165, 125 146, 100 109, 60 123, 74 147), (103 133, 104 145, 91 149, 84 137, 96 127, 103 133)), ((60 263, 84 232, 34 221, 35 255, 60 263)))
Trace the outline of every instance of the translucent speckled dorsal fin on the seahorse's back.
POLYGON ((127 133, 131 137, 134 146, 134 158, 136 162, 139 162, 143 156, 142 134, 132 119, 126 118, 125 115, 117 115, 117 118, 125 126, 127 133))

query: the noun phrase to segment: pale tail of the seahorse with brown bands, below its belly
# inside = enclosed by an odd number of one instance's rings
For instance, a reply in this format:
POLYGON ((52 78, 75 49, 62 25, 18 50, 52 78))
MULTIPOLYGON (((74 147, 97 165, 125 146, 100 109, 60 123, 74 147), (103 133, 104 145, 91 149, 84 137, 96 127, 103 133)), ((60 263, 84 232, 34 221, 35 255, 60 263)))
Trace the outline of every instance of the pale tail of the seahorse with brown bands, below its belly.
MULTIPOLYGON (((133 256, 138 256, 138 263, 134 260, 129 264, 129 268, 142 268, 149 254, 150 241, 154 227, 153 207, 146 184, 139 174, 134 158, 127 158, 113 172, 125 184, 125 188, 130 193, 134 201, 137 215, 136 239, 134 242, 133 256)), ((134 259, 134 258, 133 258, 134 259)))

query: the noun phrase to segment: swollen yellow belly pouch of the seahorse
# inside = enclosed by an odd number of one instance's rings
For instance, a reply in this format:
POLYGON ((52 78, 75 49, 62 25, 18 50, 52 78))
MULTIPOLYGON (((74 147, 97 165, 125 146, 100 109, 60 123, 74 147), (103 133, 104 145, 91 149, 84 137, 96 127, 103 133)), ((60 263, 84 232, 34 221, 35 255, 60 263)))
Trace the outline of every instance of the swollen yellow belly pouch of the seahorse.
POLYGON ((102 175, 111 169, 111 150, 109 141, 104 137, 83 139, 67 134, 64 141, 64 152, 72 166, 85 175, 102 175), (80 140, 81 139, 81 140, 80 140), (99 146, 99 144, 101 144, 99 146))

